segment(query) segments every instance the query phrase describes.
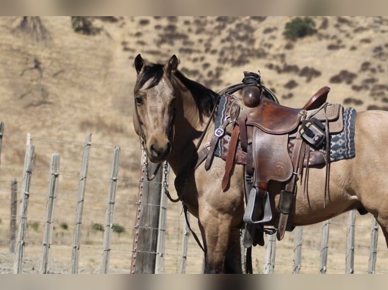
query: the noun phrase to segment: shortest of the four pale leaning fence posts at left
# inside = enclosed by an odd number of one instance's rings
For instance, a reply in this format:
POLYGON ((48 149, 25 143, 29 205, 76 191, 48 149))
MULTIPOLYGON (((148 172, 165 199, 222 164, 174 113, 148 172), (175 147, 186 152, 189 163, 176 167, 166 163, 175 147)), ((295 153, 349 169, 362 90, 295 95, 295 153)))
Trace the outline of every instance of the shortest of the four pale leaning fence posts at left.
POLYGON ((42 267, 41 273, 46 274, 49 271, 51 244, 53 241, 53 227, 55 204, 57 202, 57 192, 59 183, 60 155, 55 153, 51 156, 49 192, 46 205, 46 222, 43 232, 43 247, 42 247, 42 267))

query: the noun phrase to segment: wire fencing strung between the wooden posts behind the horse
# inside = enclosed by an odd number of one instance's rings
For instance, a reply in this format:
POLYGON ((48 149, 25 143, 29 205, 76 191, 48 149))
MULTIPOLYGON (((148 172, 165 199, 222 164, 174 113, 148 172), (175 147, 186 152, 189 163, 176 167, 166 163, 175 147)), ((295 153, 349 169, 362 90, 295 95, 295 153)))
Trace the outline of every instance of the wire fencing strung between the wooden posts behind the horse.
MULTIPOLYGON (((35 146, 25 239, 24 272, 37 273, 42 261, 43 231, 48 197, 50 158, 61 156, 58 195, 56 200, 53 241, 51 245, 52 272, 70 273, 75 209, 79 187, 84 140, 65 140, 4 134, 0 164, 0 273, 12 272, 13 255, 9 253, 11 223, 11 182, 18 181, 20 198, 23 157, 26 143, 35 146)), ((105 212, 108 201, 109 172, 113 144, 94 143, 90 151, 89 173, 86 181, 79 273, 97 273, 103 254, 105 212)), ((121 161, 117 179, 117 196, 110 250, 110 273, 131 273, 134 231, 138 209, 139 172, 141 169, 139 147, 121 146, 121 161)), ((173 184, 173 174, 169 183, 173 184)), ((170 186, 172 195, 176 195, 170 186)), ((158 204, 149 204, 158 207, 158 204)), ((185 219, 180 204, 167 203, 166 240, 163 250, 163 273, 179 273, 182 260, 182 239, 185 219)), ((19 215, 19 213, 18 213, 19 215)), ((199 233, 197 221, 191 226, 199 233)), ((347 214, 331 220, 326 273, 345 273, 347 214)), ((303 227, 300 273, 318 273, 321 252, 322 224, 303 227)), ((370 254, 371 216, 356 216, 354 273, 367 273, 370 254)), ((380 232, 381 234, 381 232, 380 232)), ((277 243, 275 273, 292 273, 294 233, 286 233, 277 243)), ((265 247, 253 249, 253 271, 264 271, 265 247)), ((376 273, 388 273, 388 251, 383 236, 377 244, 376 273)), ((200 273, 203 253, 191 234, 188 235, 185 273, 200 273)))

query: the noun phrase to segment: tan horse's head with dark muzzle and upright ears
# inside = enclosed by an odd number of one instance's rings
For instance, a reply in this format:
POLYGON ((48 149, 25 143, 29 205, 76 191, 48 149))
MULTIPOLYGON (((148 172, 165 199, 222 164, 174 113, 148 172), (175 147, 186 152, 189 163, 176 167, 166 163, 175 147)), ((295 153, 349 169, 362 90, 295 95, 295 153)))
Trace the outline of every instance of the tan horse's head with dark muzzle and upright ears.
POLYGON ((140 54, 135 58, 134 127, 154 163, 165 161, 171 152, 175 91, 170 78, 177 65, 175 55, 165 65, 146 64, 140 54))

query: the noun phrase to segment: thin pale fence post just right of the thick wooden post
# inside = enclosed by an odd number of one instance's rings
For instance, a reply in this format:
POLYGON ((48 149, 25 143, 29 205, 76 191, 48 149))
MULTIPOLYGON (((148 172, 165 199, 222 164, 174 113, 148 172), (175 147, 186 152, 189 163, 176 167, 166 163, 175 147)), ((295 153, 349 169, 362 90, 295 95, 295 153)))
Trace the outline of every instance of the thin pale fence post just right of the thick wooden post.
POLYGON ((166 245, 166 224, 167 224, 167 196, 165 195, 165 186, 168 187, 169 169, 167 161, 164 162, 163 170, 163 186, 161 192, 160 201, 160 214, 159 214, 159 232, 157 241, 157 257, 155 261, 155 273, 163 274, 164 271, 164 251, 166 245))

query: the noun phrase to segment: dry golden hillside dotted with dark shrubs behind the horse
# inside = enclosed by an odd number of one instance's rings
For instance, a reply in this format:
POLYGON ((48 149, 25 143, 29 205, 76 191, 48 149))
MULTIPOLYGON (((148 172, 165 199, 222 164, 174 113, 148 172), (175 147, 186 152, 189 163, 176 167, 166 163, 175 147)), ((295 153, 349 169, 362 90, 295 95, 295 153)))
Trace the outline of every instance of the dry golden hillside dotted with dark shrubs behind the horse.
MULTIPOLYGON (((104 220, 106 177, 111 148, 116 145, 123 150, 120 176, 124 181, 118 195, 118 210, 123 214, 117 221, 126 224, 130 219, 131 227, 140 163, 132 125, 133 61, 139 53, 159 62, 175 54, 186 76, 215 91, 240 82, 244 71, 259 70, 264 85, 286 106, 303 106, 327 85, 329 102, 357 110, 388 110, 388 17, 313 17, 317 33, 294 42, 283 36, 291 19, 98 17, 92 19, 92 35, 87 35, 74 32, 70 17, 42 17, 45 37, 36 41, 20 29, 20 17, 0 17, 0 121, 6 126, 0 167, 4 201, 0 242, 8 233, 9 182, 21 176, 27 133, 36 144, 34 190, 41 193, 40 205, 30 209, 32 220, 42 222, 50 154, 60 152, 64 172, 60 194, 69 197, 58 201, 57 219, 71 221, 73 208, 68 204, 74 203, 82 144, 85 135, 92 133, 94 179, 87 196, 101 205, 88 221, 104 220)), ((178 216, 179 211, 178 207, 178 216)), ((70 245, 71 228, 68 235, 63 243, 70 245)), ((132 243, 132 236, 127 239, 132 243)), ((0 244, 6 249, 6 243, 0 244)), ((55 257, 61 259, 61 254, 55 257)), ((115 259, 128 270, 128 261, 122 261, 120 253, 115 259)), ((98 261, 90 259, 84 265, 98 268, 98 261)))

